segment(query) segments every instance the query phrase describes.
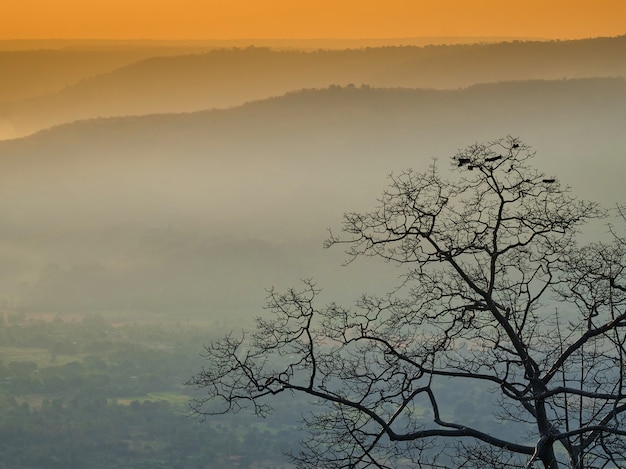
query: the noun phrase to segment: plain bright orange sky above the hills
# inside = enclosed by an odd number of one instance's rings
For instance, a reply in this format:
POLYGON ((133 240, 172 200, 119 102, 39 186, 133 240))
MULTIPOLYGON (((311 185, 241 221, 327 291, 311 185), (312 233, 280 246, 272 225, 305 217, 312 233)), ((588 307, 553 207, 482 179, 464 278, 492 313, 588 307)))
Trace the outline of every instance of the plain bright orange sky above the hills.
POLYGON ((626 34, 626 0, 0 0, 0 39, 626 34))

